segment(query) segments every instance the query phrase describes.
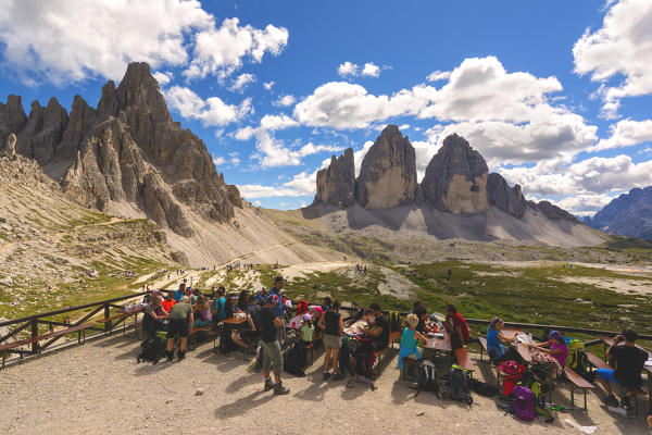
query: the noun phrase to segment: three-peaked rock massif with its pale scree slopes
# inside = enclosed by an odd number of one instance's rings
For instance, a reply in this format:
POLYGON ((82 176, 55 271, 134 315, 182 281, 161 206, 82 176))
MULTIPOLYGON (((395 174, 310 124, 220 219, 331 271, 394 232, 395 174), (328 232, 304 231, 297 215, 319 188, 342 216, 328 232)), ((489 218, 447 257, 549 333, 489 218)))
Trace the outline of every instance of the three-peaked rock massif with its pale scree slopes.
MULTIPOLYGON (((604 236, 548 201, 528 201, 521 186, 489 173, 468 141, 453 134, 417 183, 415 150, 396 125, 387 126, 355 177, 353 151, 318 171, 308 219, 341 231, 425 233, 438 239, 513 240, 565 247, 593 246, 604 236)), ((381 233, 380 233, 381 234, 381 233)))

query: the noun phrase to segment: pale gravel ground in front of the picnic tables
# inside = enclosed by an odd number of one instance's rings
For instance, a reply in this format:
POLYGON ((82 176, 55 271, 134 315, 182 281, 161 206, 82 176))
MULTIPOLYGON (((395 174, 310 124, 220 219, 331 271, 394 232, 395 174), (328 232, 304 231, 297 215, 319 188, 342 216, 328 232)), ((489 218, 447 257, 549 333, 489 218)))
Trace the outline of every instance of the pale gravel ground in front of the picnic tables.
MULTIPOLYGON (((156 365, 137 364, 139 349, 133 336, 115 336, 9 366, 0 372, 0 434, 579 434, 567 418, 597 425, 595 434, 649 433, 643 415, 607 413, 594 394, 588 415, 557 413, 552 424, 523 423, 477 395, 473 408, 429 393, 415 398, 399 382, 396 356, 374 391, 322 382, 318 357, 306 377, 284 382, 288 396, 275 397, 263 393, 262 375, 247 372, 249 360, 216 355, 212 343, 156 365)), ((485 376, 494 382, 489 365, 478 363, 476 377, 485 376)), ((554 400, 567 403, 567 396, 562 386, 554 400)))

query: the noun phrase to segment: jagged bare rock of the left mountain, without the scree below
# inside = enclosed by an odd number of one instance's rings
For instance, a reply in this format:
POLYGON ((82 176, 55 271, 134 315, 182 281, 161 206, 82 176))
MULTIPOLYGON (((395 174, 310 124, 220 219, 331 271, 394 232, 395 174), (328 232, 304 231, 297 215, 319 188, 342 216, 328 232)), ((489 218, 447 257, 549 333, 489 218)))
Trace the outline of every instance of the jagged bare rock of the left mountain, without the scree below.
POLYGON ((108 82, 97 109, 79 96, 68 114, 57 99, 0 104, 0 138, 16 134, 16 151, 36 159, 77 202, 99 210, 125 202, 183 235, 188 213, 228 222, 242 207, 236 186, 217 174, 205 145, 173 122, 147 63, 129 64, 117 87, 108 82))

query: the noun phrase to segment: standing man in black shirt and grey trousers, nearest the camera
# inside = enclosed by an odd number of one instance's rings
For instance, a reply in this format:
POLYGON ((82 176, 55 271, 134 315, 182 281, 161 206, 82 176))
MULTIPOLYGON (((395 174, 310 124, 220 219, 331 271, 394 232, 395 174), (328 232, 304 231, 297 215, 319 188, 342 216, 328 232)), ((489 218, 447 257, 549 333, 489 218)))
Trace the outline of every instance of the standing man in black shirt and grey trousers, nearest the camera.
POLYGON ((275 395, 286 395, 290 393, 285 388, 280 381, 283 371, 283 353, 278 343, 278 327, 283 326, 280 319, 276 315, 274 309, 278 304, 277 295, 268 295, 265 299, 265 306, 261 310, 261 339, 263 341, 263 376, 265 377, 265 391, 274 389, 275 395), (274 382, 269 378, 269 368, 274 368, 274 382))

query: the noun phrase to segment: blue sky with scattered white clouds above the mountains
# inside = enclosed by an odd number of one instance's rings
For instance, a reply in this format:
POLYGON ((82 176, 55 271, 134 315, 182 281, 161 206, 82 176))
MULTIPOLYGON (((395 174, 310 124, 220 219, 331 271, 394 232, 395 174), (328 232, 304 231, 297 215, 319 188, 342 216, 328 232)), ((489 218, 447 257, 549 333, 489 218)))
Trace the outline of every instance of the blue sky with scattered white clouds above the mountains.
POLYGON ((652 2, 0 0, 0 99, 97 104, 148 61, 244 198, 312 202, 388 123, 419 179, 450 133, 526 196, 590 214, 652 185, 652 2))

